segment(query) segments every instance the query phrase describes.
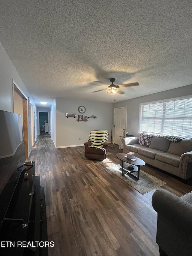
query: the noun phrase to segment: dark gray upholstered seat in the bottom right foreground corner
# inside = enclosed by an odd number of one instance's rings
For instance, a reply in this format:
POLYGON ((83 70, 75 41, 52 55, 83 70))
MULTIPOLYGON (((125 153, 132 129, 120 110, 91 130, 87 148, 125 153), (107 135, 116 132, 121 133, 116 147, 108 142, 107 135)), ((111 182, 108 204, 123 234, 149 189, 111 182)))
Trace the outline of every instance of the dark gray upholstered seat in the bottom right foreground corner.
POLYGON ((157 189, 152 206, 158 213, 156 242, 160 256, 192 256, 192 192, 178 197, 157 189))

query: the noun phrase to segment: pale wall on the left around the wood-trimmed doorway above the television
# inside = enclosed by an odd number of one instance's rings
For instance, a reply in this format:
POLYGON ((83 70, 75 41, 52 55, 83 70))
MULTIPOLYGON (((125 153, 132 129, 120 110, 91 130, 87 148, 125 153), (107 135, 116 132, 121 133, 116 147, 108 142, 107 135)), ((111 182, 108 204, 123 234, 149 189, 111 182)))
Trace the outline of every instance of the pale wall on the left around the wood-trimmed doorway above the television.
MULTIPOLYGON (((6 51, 0 42, 0 109, 13 112, 13 80, 19 86, 22 93, 30 98, 31 103, 35 106, 31 95, 25 84, 22 82, 13 63, 10 61, 6 51)), ((28 152, 31 150, 31 118, 28 117, 28 152)))

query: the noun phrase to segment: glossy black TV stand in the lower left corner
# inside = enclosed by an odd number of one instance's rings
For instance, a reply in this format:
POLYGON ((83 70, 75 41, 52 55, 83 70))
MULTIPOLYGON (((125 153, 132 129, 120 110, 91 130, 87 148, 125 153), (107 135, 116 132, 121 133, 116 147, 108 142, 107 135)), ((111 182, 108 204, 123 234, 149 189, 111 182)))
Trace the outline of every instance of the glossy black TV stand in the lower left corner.
MULTIPOLYGON (((42 246, 47 241, 44 188, 40 185, 40 176, 35 176, 35 162, 26 162, 26 165, 32 165, 32 168, 24 165, 22 170, 16 170, 20 175, 10 202, 6 202, 8 207, 0 223, 0 255, 48 255, 48 246, 42 246), (27 179, 24 179, 25 173, 27 179)), ((6 187, 4 190, 0 208, 5 201, 3 197, 9 193, 6 187)))

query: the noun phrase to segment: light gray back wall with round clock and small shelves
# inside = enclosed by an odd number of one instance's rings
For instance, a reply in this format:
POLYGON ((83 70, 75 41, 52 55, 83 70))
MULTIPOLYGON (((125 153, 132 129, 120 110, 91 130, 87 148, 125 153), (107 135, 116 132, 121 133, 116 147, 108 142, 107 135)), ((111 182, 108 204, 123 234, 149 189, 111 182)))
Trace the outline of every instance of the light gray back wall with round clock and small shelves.
POLYGON ((111 103, 56 98, 56 147, 84 145, 88 141, 89 132, 95 129, 107 130, 110 134, 108 140, 110 142, 111 128, 113 127, 112 107, 111 103), (66 117, 66 113, 80 114, 78 107, 81 105, 86 108, 83 116, 95 115, 97 118, 89 118, 86 122, 77 122, 77 118, 66 117))

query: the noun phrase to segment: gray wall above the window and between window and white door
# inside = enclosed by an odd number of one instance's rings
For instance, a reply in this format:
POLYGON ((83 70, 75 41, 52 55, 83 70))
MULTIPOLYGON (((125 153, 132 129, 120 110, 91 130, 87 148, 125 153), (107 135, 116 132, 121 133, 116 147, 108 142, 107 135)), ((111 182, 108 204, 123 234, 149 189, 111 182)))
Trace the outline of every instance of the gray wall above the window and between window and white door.
POLYGON ((127 101, 117 102, 113 104, 113 116, 114 116, 114 108, 127 106, 128 134, 138 136, 140 103, 145 103, 150 101, 159 101, 159 100, 177 98, 177 97, 188 96, 188 95, 192 95, 192 85, 167 90, 164 92, 158 92, 158 93, 130 99, 127 101))

